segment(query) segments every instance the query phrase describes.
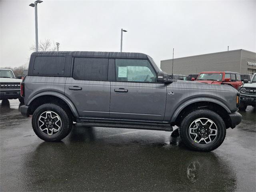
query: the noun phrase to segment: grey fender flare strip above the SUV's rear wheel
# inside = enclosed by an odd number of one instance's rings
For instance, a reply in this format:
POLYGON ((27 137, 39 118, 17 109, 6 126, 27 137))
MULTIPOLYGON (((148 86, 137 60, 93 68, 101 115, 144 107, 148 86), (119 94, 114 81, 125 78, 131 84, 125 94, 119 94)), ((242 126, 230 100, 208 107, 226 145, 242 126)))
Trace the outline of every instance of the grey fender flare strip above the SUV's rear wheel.
POLYGON ((29 100, 29 102, 28 102, 27 105, 30 105, 30 103, 31 103, 34 99, 36 99, 36 98, 38 98, 38 97, 40 97, 40 96, 44 96, 44 95, 56 96, 56 97, 58 97, 58 98, 64 100, 64 102, 66 102, 66 104, 69 106, 69 108, 70 108, 70 110, 72 111, 72 113, 74 114, 74 116, 75 116, 75 117, 79 117, 78 112, 77 112, 77 110, 76 110, 76 107, 74 106, 74 104, 72 103, 72 101, 71 101, 69 98, 67 98, 66 96, 64 96, 63 94, 60 94, 60 93, 58 93, 58 92, 47 91, 47 92, 42 92, 42 93, 36 94, 34 97, 32 97, 32 98, 29 100))

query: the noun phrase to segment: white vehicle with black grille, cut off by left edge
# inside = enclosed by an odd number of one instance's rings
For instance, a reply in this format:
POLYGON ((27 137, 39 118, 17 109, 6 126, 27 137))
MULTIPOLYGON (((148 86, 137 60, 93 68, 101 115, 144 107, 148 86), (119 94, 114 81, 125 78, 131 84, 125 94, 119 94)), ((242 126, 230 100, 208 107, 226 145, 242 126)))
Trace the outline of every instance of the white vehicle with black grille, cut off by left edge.
POLYGON ((11 69, 0 68, 0 100, 19 99, 21 103, 24 99, 20 96, 21 76, 16 78, 11 69))

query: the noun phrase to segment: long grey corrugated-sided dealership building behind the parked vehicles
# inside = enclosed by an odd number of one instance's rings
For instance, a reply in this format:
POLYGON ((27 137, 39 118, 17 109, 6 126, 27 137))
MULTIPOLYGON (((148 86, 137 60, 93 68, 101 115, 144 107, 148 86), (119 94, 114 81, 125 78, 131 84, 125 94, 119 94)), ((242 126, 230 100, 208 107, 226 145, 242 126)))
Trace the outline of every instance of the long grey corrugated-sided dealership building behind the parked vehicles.
MULTIPOLYGON (((172 59, 162 60, 160 68, 172 74, 172 59)), ((173 74, 198 74, 203 71, 233 71, 240 74, 256 72, 256 53, 244 49, 209 53, 173 61, 173 74)))

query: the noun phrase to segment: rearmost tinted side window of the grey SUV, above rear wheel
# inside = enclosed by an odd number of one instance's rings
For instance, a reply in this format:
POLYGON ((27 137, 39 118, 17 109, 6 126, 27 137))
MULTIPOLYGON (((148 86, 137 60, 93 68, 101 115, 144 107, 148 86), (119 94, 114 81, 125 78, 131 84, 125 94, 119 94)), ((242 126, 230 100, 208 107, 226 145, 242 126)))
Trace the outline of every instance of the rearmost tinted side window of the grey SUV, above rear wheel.
POLYGON ((34 62, 33 74, 63 75, 65 57, 37 56, 34 62))

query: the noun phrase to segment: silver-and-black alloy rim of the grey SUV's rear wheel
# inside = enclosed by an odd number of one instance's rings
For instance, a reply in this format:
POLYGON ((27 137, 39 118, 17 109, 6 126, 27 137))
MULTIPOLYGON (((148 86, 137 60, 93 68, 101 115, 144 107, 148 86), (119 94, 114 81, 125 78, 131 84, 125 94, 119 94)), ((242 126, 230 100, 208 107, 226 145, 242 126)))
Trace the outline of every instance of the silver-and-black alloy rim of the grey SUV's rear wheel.
POLYGON ((60 116, 53 111, 45 111, 38 118, 39 129, 47 135, 57 134, 61 125, 60 116))

